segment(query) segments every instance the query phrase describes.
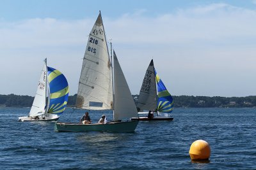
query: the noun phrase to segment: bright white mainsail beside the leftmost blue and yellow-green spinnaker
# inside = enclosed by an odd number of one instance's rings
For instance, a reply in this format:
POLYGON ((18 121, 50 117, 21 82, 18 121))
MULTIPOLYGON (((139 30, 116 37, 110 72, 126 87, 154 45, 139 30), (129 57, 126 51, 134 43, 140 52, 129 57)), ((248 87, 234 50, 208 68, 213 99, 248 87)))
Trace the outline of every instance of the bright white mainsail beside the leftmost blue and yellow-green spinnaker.
POLYGON ((44 66, 42 68, 40 80, 38 82, 35 99, 33 101, 31 110, 29 112, 29 117, 35 117, 45 113, 45 106, 46 106, 45 97, 46 97, 46 85, 47 85, 46 72, 47 72, 47 66, 46 66, 46 60, 45 60, 44 66))

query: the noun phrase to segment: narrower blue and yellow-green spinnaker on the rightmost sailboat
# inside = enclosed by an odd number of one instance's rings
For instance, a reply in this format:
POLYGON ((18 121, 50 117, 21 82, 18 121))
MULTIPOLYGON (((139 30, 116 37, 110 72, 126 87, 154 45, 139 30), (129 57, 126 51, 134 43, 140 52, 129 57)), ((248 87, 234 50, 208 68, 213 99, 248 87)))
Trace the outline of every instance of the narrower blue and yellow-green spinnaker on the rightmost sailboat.
POLYGON ((156 75, 156 84, 158 92, 157 111, 171 113, 173 110, 173 98, 164 86, 163 81, 160 79, 154 69, 156 75))

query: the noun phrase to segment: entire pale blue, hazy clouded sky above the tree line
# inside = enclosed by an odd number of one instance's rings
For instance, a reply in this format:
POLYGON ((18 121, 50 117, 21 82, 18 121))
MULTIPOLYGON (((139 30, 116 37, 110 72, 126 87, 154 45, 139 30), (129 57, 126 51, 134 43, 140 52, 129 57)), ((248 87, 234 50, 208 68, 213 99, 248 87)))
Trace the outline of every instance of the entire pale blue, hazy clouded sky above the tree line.
POLYGON ((76 94, 99 10, 132 94, 154 59, 173 96, 256 96, 256 0, 0 0, 0 94, 35 96, 45 57, 76 94))

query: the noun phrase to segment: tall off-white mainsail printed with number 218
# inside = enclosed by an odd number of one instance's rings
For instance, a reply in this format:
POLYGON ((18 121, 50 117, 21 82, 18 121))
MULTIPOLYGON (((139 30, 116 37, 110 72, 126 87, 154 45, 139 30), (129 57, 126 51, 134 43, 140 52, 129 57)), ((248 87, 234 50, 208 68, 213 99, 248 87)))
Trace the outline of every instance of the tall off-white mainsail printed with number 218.
POLYGON ((113 109, 111 64, 100 13, 88 38, 79 79, 76 108, 113 109))

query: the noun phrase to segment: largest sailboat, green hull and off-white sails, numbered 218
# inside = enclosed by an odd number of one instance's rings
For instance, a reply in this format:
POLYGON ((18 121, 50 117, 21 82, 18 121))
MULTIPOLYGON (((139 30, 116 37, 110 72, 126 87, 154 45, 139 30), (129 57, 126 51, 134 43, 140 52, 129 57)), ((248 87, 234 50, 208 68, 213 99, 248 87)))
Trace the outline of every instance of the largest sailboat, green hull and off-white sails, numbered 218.
POLYGON ((56 122, 54 131, 134 132, 138 125, 138 121, 131 120, 131 117, 138 116, 138 111, 115 51, 112 61, 112 49, 109 57, 101 13, 90 32, 84 53, 76 108, 113 110, 113 121, 104 124, 56 122))

